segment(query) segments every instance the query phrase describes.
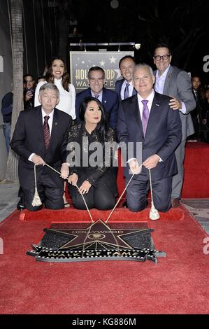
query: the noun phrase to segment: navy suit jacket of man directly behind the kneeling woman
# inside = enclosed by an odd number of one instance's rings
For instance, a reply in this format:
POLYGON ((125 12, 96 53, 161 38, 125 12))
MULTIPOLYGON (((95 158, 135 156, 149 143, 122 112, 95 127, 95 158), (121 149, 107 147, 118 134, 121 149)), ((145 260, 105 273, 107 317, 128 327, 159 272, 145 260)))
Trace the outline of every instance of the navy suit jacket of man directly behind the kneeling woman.
MULTIPOLYGON (((82 92, 79 92, 76 95, 75 113, 76 113, 77 123, 81 122, 80 118, 79 118, 79 107, 80 107, 80 102, 85 97, 92 97, 90 88, 88 88, 87 90, 83 90, 82 92)), ((106 111, 106 115, 107 115, 110 127, 115 129, 115 127, 117 125, 117 113, 118 113, 118 107, 119 107, 119 97, 117 95, 117 92, 114 92, 113 90, 109 90, 109 89, 106 89, 105 87, 103 87, 101 103, 106 111)))

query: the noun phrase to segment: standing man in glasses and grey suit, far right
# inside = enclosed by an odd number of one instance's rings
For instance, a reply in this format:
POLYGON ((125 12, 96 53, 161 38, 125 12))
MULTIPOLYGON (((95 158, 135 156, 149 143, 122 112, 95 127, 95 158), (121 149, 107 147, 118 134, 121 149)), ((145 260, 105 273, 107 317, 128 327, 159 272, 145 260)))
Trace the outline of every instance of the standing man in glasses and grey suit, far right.
POLYGON ((194 134, 194 126, 189 112, 195 109, 196 102, 192 94, 189 74, 170 64, 172 56, 168 45, 164 43, 157 45, 154 49, 153 59, 157 66, 157 71, 154 71, 156 78, 154 90, 172 97, 169 105, 171 109, 179 111, 182 123, 182 141, 175 150, 178 174, 173 176, 171 193, 172 207, 178 207, 184 177, 183 162, 186 139, 189 135, 194 134))

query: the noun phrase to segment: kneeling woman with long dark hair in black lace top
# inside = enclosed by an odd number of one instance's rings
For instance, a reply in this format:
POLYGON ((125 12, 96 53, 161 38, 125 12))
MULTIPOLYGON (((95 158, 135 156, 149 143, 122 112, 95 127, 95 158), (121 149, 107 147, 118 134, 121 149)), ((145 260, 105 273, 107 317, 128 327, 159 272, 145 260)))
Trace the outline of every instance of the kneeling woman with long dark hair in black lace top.
POLYGON ((98 99, 86 97, 80 103, 82 123, 69 131, 69 193, 76 209, 112 209, 117 196, 117 148, 115 132, 108 126, 106 113, 98 99), (77 188, 78 186, 78 188, 77 188))

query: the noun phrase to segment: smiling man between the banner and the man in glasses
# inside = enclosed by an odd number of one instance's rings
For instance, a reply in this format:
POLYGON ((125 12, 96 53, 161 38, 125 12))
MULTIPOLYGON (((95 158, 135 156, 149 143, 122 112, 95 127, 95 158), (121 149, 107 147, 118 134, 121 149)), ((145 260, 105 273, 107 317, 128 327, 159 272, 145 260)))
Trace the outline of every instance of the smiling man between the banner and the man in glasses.
POLYGON ((115 82, 115 91, 119 95, 120 101, 137 94, 132 81, 134 66, 135 60, 131 55, 120 59, 119 69, 123 78, 115 82))

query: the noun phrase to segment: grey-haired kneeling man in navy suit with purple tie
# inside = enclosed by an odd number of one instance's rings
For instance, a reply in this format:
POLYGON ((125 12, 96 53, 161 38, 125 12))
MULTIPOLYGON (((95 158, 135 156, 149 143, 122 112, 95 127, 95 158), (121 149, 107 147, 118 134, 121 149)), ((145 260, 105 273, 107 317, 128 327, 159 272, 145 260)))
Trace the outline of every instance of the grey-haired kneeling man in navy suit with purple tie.
POLYGON ((135 174, 127 188, 127 204, 131 211, 145 209, 151 169, 154 207, 166 212, 171 208, 172 176, 177 172, 174 151, 182 137, 180 116, 170 108, 170 97, 154 92, 150 66, 136 64, 133 80, 138 94, 120 103, 117 123, 118 139, 124 142, 122 153, 125 149, 127 152, 126 184, 135 174), (133 145, 131 157, 129 143, 133 145), (141 162, 143 167, 138 174, 141 162))

